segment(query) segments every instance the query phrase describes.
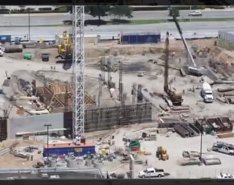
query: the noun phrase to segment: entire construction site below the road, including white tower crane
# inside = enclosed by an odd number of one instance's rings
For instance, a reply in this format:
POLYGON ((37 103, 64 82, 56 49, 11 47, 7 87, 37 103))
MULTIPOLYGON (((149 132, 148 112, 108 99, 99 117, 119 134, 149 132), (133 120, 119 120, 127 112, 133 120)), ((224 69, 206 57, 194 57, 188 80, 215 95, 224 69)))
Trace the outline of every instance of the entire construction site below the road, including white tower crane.
POLYGON ((76 35, 1 45, 0 178, 234 178, 226 38, 174 16, 180 39, 88 39, 83 11, 76 35))

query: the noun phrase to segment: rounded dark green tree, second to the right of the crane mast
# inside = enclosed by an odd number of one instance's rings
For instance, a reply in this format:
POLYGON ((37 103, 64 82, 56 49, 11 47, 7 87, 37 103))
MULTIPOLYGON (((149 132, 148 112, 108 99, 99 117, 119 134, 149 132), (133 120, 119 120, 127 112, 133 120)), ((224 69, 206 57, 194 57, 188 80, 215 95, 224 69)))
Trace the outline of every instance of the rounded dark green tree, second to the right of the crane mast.
POLYGON ((132 9, 127 5, 116 5, 110 9, 110 15, 117 16, 118 19, 121 17, 132 17, 132 9))

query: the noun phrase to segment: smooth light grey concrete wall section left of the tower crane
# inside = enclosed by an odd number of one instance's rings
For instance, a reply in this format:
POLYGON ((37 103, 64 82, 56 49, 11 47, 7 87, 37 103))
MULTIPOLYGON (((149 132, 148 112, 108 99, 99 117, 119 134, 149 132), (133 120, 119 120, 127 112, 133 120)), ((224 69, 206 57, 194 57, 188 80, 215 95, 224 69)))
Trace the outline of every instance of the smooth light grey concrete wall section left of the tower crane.
POLYGON ((34 132, 46 130, 44 124, 53 128, 63 128, 63 113, 27 116, 8 120, 8 138, 15 138, 17 132, 34 132))

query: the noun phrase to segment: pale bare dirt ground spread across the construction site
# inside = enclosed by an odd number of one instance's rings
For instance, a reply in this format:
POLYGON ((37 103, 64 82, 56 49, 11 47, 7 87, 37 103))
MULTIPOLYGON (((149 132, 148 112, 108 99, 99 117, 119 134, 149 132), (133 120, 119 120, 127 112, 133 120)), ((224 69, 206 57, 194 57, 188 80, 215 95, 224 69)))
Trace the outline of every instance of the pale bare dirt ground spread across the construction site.
MULTIPOLYGON (((214 39, 209 40, 195 40, 191 41, 192 45, 198 46, 198 48, 202 49, 203 47, 214 47, 214 39)), ((163 60, 160 59, 162 56, 162 52, 164 50, 164 43, 159 43, 155 45, 117 45, 116 43, 99 43, 97 45, 89 44, 86 45, 86 67, 85 67, 85 75, 90 79, 95 79, 96 86, 97 77, 101 73, 98 68, 98 61, 102 56, 107 55, 118 55, 121 58, 121 61, 124 65, 123 70, 123 91, 126 93, 126 104, 132 103, 132 85, 134 83, 141 84, 143 86, 143 94, 145 97, 148 97, 148 100, 152 102, 153 112, 152 112, 152 123, 146 123, 142 125, 131 125, 125 128, 113 129, 111 131, 103 132, 93 132, 87 133, 87 138, 91 140, 97 140, 99 137, 103 137, 104 139, 108 139, 110 135, 115 135, 115 147, 123 147, 122 137, 123 135, 128 135, 129 133, 133 133, 136 130, 144 129, 143 127, 156 128, 158 123, 158 115, 163 111, 159 108, 159 105, 165 105, 165 101, 158 97, 151 97, 150 93, 164 93, 164 66, 163 60), (149 62, 149 60, 157 61, 149 62), (142 77, 138 76, 139 71, 143 71, 144 75, 142 77)), ((211 104, 206 104, 203 102, 200 96, 201 90, 201 78, 194 76, 186 76, 181 77, 179 74, 179 70, 181 66, 186 63, 186 53, 182 44, 182 41, 170 41, 170 50, 174 53, 174 57, 170 60, 170 65, 174 67, 174 69, 169 69, 169 81, 170 88, 174 88, 177 92, 183 92, 183 105, 189 105, 190 113, 188 113, 189 118, 198 118, 198 117, 206 117, 206 116, 224 116, 227 115, 231 119, 234 115, 234 105, 232 104, 224 104, 215 99, 215 101, 211 104)), ((4 64, 0 69, 0 82, 6 78, 4 72, 8 71, 9 74, 13 74, 17 70, 33 70, 39 71, 41 73, 46 74, 47 76, 53 79, 63 79, 69 80, 72 69, 64 70, 61 64, 55 64, 54 56, 56 55, 56 49, 44 50, 43 52, 51 52, 51 60, 50 62, 42 62, 40 59, 40 53, 42 51, 36 51, 30 49, 31 52, 34 53, 34 59, 32 61, 25 61, 22 59, 22 54, 15 55, 6 55, 1 58, 1 62, 4 64), (51 65, 56 66, 56 72, 51 71, 51 65), (47 71, 47 72, 46 72, 47 71)), ((25 52, 30 52, 29 50, 25 50, 25 52)), ((202 60, 203 61, 203 60, 202 60)), ((202 63, 200 61, 200 63, 202 63)), ((207 61, 207 59, 204 59, 207 61)), ((205 64, 204 64, 205 65, 205 64)), ((27 74, 23 74, 23 76, 27 76, 27 74)), ((107 74, 105 74, 107 77, 107 74)), ((115 92, 118 95, 118 82, 119 82, 119 73, 114 72, 111 73, 112 81, 116 84, 115 92)), ((94 86, 91 84, 91 86, 94 86)), ((232 87, 233 85, 228 85, 228 87, 232 87)), ((214 85, 214 96, 217 97, 217 88, 227 87, 227 85, 214 85)), ((106 86, 104 85, 104 88, 106 86)), ((92 88, 91 88, 92 89, 92 88)), ((97 89, 96 89, 97 92, 97 89)), ((103 102, 106 99, 111 99, 110 94, 103 93, 103 102)), ((118 97, 118 96, 116 96, 118 97)), ((165 112, 164 112, 165 113, 165 112)), ((179 113, 178 113, 179 114, 179 113)), ((171 114, 170 116, 178 116, 178 114, 171 114)), ((142 131, 142 130, 141 130, 142 131)), ((140 132, 141 132, 140 131, 140 132)), ((135 132, 134 132, 135 133, 135 132)), ((215 142, 217 138, 215 136, 206 135, 204 136, 204 152, 209 148, 213 142, 215 142)), ((227 142, 233 142, 233 138, 223 139, 227 142)), ((41 146, 43 142, 39 145, 36 142, 26 143, 26 145, 36 144, 41 146)), ((183 150, 199 150, 200 137, 193 138, 181 138, 175 133, 168 135, 159 134, 157 136, 156 141, 142 141, 141 146, 142 150, 150 151, 152 154, 149 156, 141 155, 139 156, 142 160, 148 160, 148 164, 153 167, 163 168, 166 172, 171 175, 168 178, 200 178, 200 177, 215 177, 220 170, 224 172, 232 172, 234 173, 234 168, 231 166, 230 156, 226 156, 224 154, 211 153, 212 155, 220 157, 222 161, 222 165, 220 166, 188 166, 182 167, 179 166, 177 160, 181 157, 181 153, 183 150), (155 157, 155 151, 157 146, 165 146, 168 149, 168 153, 170 159, 168 161, 158 161, 155 157)), ((6 144, 5 144, 6 145, 6 144)), ((23 145, 22 145, 23 146, 23 145)), ((5 146, 2 146, 4 148, 5 146)), ((12 155, 5 155, 0 157, 0 167, 31 167, 32 164, 35 164, 36 161, 41 160, 41 156, 35 154, 34 161, 27 161, 26 159, 15 158, 12 155)), ((128 164, 121 164, 119 160, 114 162, 104 162, 102 164, 101 169, 106 172, 123 172, 128 171, 128 164)), ((144 165, 136 165, 135 166, 135 177, 137 177, 137 173, 140 170, 143 170, 146 166, 144 165)))

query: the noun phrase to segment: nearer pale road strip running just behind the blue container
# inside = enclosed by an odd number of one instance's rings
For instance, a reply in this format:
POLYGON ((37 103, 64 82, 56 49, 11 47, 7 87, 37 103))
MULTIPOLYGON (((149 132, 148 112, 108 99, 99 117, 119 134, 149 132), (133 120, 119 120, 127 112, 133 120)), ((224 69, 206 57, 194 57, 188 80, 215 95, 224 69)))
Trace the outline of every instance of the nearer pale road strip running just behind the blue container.
MULTIPOLYGON (((218 30, 234 30, 234 22, 183 22, 180 24, 184 36, 197 35, 217 36, 218 30)), ((31 39, 54 39, 55 34, 61 34, 64 30, 71 32, 70 26, 31 27, 31 39)), ((86 35, 118 35, 120 32, 161 32, 162 36, 169 31, 174 37, 179 37, 174 23, 160 23, 147 25, 104 25, 85 27, 86 35)), ((28 34, 28 27, 2 27, 1 34, 10 34, 23 37, 28 34)))

